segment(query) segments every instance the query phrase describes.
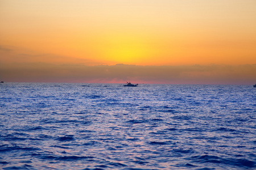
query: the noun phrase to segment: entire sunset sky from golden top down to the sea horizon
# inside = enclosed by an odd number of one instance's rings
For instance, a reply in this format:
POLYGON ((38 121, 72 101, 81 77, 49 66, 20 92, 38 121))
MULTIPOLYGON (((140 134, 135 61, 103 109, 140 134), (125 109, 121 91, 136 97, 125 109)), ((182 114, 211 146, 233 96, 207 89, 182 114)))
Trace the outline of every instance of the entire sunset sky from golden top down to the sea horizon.
POLYGON ((0 81, 255 84, 255 0, 0 0, 0 81))

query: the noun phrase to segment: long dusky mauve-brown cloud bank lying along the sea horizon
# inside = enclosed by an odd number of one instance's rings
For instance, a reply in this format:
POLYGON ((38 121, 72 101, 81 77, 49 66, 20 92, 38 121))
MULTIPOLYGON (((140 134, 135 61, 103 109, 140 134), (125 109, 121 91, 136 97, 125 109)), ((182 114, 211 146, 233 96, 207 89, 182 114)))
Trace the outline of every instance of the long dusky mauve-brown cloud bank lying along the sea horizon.
POLYGON ((6 82, 255 84, 256 65, 55 65, 10 63, 0 65, 6 82))

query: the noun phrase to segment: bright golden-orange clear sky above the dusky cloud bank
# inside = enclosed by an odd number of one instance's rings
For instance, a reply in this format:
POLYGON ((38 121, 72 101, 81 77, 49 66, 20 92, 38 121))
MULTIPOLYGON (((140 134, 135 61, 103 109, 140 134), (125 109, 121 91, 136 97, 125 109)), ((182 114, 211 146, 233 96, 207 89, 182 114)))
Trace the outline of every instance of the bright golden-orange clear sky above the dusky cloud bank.
POLYGON ((254 0, 1 0, 0 64, 255 65, 255 8, 254 0))

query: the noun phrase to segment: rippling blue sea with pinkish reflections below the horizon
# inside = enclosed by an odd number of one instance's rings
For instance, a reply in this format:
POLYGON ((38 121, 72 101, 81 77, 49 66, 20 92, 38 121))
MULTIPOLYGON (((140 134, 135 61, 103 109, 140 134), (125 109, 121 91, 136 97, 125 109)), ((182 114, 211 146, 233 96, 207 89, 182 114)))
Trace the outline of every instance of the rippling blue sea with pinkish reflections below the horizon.
POLYGON ((1 83, 1 169, 256 169, 256 88, 1 83))

